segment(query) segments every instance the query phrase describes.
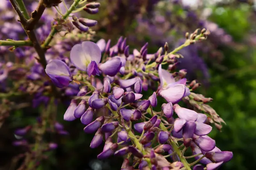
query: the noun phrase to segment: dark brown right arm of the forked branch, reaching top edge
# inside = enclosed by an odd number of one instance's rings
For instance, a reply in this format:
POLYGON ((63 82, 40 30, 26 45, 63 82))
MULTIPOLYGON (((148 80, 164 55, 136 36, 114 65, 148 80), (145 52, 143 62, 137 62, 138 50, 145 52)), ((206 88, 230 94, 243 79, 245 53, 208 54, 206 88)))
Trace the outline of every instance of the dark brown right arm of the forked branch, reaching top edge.
POLYGON ((43 15, 45 8, 46 5, 44 4, 44 0, 40 0, 35 11, 31 13, 31 18, 26 22, 26 30, 32 30, 35 28, 35 25, 38 23, 41 16, 43 15))

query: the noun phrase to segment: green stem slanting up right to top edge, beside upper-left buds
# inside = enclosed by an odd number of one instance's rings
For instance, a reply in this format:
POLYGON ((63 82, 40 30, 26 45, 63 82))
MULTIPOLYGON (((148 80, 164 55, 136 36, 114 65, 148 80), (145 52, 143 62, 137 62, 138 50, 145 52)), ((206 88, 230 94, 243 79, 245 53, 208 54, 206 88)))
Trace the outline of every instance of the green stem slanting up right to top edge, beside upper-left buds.
MULTIPOLYGON (((76 8, 76 6, 79 4, 80 0, 74 0, 73 4, 70 6, 70 8, 67 10, 67 12, 61 17, 61 19, 66 20, 67 17, 71 14, 71 12, 76 8)), ((53 36, 58 32, 58 30, 53 26, 50 34, 46 38, 43 45, 41 45, 42 48, 46 48, 49 43, 52 41, 53 36)))

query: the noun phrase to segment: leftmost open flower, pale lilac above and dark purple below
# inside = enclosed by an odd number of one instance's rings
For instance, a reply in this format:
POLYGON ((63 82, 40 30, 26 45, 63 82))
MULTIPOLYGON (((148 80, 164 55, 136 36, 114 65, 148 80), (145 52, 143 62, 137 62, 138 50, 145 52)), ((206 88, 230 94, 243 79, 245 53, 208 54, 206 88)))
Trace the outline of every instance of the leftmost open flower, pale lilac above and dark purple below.
POLYGON ((67 64, 61 60, 54 59, 50 61, 45 68, 45 72, 58 88, 68 86, 72 81, 67 64))

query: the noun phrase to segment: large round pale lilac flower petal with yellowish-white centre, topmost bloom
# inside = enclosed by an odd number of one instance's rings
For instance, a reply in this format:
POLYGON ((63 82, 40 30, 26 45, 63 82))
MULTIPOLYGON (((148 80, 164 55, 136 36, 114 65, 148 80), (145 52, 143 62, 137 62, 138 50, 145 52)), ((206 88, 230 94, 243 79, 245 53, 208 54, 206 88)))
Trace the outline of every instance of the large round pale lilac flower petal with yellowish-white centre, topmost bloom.
POLYGON ((99 64, 101 60, 101 50, 96 43, 84 41, 81 44, 73 46, 70 51, 70 60, 76 68, 88 72, 87 67, 91 61, 95 61, 96 65, 99 64))

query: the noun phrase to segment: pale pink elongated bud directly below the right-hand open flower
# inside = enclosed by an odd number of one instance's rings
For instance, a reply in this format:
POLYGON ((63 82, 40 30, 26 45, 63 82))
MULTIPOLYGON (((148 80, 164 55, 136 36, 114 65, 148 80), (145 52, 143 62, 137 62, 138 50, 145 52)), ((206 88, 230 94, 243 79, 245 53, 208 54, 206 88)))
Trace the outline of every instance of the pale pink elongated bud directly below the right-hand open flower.
POLYGON ((180 119, 185 119, 186 121, 196 121, 198 118, 198 113, 187 108, 181 108, 178 104, 175 104, 173 109, 180 119))

